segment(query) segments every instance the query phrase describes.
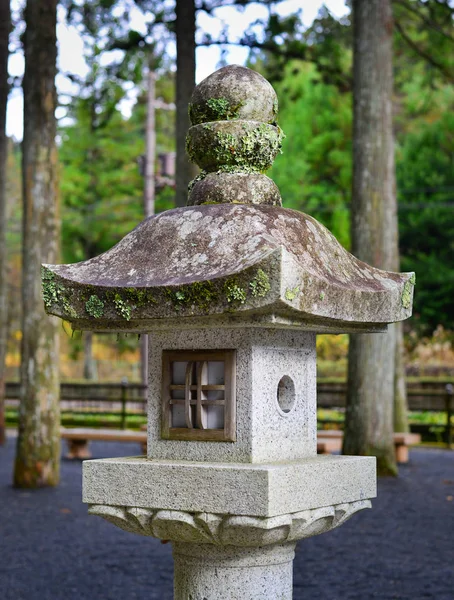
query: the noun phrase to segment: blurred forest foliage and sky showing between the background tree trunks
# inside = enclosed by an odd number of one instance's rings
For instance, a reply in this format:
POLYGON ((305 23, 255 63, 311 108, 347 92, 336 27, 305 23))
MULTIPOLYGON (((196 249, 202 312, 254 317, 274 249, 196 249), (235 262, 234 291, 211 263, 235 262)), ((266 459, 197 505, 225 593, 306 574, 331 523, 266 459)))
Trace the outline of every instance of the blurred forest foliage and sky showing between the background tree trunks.
MULTIPOLYGON (((232 40, 220 5, 238 17, 248 2, 204 2, 220 34, 197 31, 197 41, 247 48, 247 66, 267 77, 279 100, 286 133, 283 155, 269 175, 284 206, 324 223, 348 249, 352 180, 352 26, 323 7, 306 27, 301 14, 279 16, 283 2, 262 2, 267 16, 232 40), (301 48, 306 49, 304 55, 301 48), (307 51, 309 48, 310 52, 307 51)), ((255 3, 260 4, 260 3, 255 3)), ((301 2, 304 10, 305 2, 301 2)), ((65 73, 72 93, 60 97, 59 169, 62 259, 95 256, 118 242, 143 218, 147 69, 156 74, 156 212, 175 205, 173 174, 162 155, 175 151, 173 5, 156 0, 61 2, 64 18, 84 44, 87 74, 65 73), (131 22, 143 11, 147 32, 131 22), (121 110, 135 98, 131 114, 121 110), (159 108, 161 107, 161 108, 159 108)), ((436 0, 395 0, 394 124, 401 270, 415 271, 414 317, 406 324, 407 367, 418 374, 454 373, 454 70, 452 7, 436 0)), ((20 44, 21 11, 13 45, 20 44)), ((14 85, 15 81, 12 80, 14 85)), ((20 144, 9 143, 7 252, 9 330, 6 379, 17 380, 20 362, 21 183, 20 144)), ((157 257, 159 259, 159 257, 157 257)), ((64 325, 62 380, 140 379, 136 336, 82 338, 64 325), (88 343, 87 343, 88 342, 88 343), (114 367, 112 366, 114 361, 114 367)), ((319 371, 345 376, 347 336, 320 336, 319 371)))

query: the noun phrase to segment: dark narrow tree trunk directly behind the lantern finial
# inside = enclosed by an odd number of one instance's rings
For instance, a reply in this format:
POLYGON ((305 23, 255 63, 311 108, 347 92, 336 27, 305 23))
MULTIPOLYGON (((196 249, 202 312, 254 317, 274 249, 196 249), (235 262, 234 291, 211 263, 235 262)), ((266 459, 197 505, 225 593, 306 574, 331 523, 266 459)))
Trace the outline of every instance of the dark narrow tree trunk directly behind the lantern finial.
POLYGON ((188 104, 195 87, 195 4, 194 0, 177 0, 177 159, 176 205, 185 206, 188 184, 197 167, 186 155, 186 133, 189 128, 188 104))

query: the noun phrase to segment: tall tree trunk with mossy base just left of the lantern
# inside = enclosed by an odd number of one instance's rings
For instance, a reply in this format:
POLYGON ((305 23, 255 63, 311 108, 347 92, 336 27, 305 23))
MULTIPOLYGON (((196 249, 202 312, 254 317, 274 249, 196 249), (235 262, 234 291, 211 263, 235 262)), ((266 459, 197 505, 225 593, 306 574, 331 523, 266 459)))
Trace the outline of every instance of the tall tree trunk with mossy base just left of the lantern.
POLYGON ((57 0, 25 9, 22 342, 14 484, 56 485, 60 470, 59 325, 45 314, 41 263, 58 261, 55 75, 57 0))

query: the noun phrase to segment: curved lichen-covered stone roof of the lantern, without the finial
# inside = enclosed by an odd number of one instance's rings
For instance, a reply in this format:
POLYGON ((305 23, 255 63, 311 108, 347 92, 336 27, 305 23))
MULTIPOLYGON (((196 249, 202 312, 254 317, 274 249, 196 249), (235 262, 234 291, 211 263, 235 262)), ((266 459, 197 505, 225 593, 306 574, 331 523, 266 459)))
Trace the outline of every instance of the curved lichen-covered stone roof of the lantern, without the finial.
POLYGON ((96 258, 43 268, 47 311, 94 330, 266 315, 379 329, 410 316, 413 283, 359 261, 308 215, 242 204, 167 211, 96 258))

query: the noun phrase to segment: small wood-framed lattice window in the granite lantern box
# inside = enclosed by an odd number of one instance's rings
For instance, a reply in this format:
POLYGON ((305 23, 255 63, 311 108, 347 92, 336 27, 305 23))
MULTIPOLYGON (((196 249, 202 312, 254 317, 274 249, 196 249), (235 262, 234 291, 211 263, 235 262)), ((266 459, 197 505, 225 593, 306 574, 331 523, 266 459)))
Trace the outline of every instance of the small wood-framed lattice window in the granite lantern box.
POLYGON ((235 441, 235 351, 164 350, 164 439, 235 441))

